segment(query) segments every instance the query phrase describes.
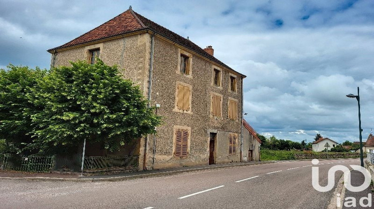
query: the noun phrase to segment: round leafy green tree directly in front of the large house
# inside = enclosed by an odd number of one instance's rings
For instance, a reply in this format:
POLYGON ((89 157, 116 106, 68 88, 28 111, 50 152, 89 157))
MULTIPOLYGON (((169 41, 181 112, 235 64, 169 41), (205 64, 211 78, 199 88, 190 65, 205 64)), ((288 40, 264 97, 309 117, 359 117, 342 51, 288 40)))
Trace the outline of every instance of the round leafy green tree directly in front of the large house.
POLYGON ((36 127, 28 148, 56 153, 87 139, 113 151, 155 133, 161 118, 148 108, 140 88, 120 77, 117 67, 99 59, 94 65, 71 65, 52 69, 28 94, 32 104, 43 109, 31 116, 36 127))

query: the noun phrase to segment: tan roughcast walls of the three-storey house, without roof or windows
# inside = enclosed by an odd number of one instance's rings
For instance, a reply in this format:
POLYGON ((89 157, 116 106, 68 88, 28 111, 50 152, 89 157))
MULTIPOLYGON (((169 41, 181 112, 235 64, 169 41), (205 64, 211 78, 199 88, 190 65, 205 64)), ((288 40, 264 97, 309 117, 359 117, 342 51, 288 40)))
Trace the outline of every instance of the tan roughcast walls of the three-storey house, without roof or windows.
MULTIPOLYGON (((144 32, 90 45, 64 49, 52 54, 54 67, 69 65, 69 61, 87 60, 90 49, 100 48, 100 59, 107 65, 124 69, 121 74, 140 85, 148 97, 149 69, 152 35, 144 32)), ((155 35, 153 54, 153 76, 151 105, 160 104, 158 115, 164 123, 157 127, 155 136, 148 136, 147 159, 144 160, 146 138, 140 140, 139 165, 143 169, 203 165, 209 163, 210 133, 216 134, 214 163, 240 161, 241 97, 242 77, 240 74, 218 66, 212 61, 189 51, 169 40, 155 35), (190 56, 190 75, 179 71, 180 53, 190 56), (221 87, 212 85, 213 68, 221 71, 221 87), (236 77, 236 92, 230 91, 230 76, 236 77), (176 111, 177 84, 190 87, 191 100, 188 112, 176 111), (211 115, 211 95, 222 96, 222 117, 211 115), (237 119, 228 118, 228 100, 237 101, 237 119), (175 130, 189 130, 188 155, 176 157, 175 130), (237 135, 235 153, 229 154, 229 134, 237 135), (155 143, 155 155, 153 154, 155 143)))

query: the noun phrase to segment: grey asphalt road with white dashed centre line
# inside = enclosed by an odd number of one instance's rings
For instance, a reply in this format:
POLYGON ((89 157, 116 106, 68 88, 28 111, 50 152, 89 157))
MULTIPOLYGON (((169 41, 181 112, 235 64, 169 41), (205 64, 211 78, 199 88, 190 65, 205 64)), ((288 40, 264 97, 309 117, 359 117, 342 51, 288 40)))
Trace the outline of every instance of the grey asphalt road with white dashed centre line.
MULTIPOLYGON (((332 166, 359 164, 359 159, 321 160, 320 185, 327 185, 332 166)), ((279 162, 121 182, 0 180, 0 208, 324 209, 333 190, 312 187, 312 166, 279 162)))

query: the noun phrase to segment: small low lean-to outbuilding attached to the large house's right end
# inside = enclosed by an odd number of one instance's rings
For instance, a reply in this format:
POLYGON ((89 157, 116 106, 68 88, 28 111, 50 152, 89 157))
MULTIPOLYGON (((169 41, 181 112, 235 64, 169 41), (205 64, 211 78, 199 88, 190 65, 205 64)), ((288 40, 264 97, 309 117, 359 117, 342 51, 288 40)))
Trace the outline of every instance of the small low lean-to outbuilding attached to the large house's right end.
POLYGON ((260 161, 261 140, 257 132, 243 119, 243 161, 260 161))

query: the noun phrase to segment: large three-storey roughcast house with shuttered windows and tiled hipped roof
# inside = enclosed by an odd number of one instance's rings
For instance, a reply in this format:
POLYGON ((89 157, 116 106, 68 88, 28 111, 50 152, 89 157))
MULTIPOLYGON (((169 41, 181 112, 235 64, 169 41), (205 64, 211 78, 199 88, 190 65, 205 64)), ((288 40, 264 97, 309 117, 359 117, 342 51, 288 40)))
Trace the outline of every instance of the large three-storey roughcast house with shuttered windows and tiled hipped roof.
MULTIPOLYGON (((164 123, 124 147, 139 169, 239 162, 244 75, 192 41, 133 11, 52 49, 51 67, 99 57, 139 85, 164 123), (157 105, 156 105, 157 104, 157 105)), ((89 148, 86 149, 89 153, 89 148)))

